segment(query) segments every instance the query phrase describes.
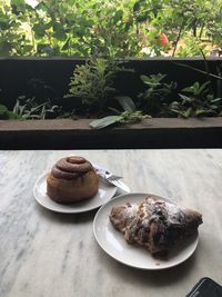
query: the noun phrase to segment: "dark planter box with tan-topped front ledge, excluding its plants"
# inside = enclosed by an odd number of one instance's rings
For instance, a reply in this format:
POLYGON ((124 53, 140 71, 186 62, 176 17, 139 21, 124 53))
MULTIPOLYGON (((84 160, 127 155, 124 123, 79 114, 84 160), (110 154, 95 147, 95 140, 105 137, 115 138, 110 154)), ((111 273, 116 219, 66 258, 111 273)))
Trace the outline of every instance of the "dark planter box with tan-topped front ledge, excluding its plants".
MULTIPOLYGON (((0 59, 1 103, 13 106, 12 98, 29 91, 30 79, 41 79, 57 89, 62 98, 70 76, 82 59, 0 59)), ((205 76, 179 67, 185 63, 204 70, 200 59, 134 59, 129 67, 135 73, 121 73, 118 87, 122 93, 133 96, 141 89, 141 73, 167 73, 181 87, 204 81, 205 76)), ((222 59, 209 59, 215 72, 222 59)), ((215 86, 216 87, 216 86, 215 86)), ((62 100, 62 99, 61 99, 62 100)), ((92 120, 92 119, 91 119, 92 120)), ((153 118, 141 123, 92 130, 89 119, 80 120, 0 120, 0 149, 115 149, 115 148, 221 148, 222 118, 175 119, 153 118)))

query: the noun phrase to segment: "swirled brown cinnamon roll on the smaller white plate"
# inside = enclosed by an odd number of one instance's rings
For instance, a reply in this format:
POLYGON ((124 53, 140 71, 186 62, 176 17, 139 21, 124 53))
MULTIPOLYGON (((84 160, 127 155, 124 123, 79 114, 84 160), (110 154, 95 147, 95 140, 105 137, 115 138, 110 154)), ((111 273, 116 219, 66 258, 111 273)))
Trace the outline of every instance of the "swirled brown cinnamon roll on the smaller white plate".
POLYGON ((47 178, 48 196, 60 204, 92 198, 99 189, 99 177, 87 159, 71 156, 60 159, 47 178))

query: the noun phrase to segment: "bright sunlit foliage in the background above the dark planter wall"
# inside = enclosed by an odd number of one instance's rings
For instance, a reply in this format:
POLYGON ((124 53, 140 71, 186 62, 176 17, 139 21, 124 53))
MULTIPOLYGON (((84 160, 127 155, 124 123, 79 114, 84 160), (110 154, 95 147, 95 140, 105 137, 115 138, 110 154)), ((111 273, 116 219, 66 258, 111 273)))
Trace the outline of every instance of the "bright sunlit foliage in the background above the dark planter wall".
POLYGON ((0 56, 220 55, 221 0, 0 0, 0 56))

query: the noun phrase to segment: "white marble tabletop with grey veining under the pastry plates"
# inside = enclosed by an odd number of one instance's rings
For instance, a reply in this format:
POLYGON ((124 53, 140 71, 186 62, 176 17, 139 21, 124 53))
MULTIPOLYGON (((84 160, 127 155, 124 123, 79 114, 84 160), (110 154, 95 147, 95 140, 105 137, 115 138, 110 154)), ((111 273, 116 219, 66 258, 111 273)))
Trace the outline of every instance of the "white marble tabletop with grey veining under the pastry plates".
POLYGON ((0 151, 1 297, 183 297, 203 276, 222 284, 222 150, 0 151), (56 214, 36 202, 36 179, 60 158, 84 156, 135 192, 203 214, 194 255, 159 271, 127 267, 92 232, 95 211, 56 214))

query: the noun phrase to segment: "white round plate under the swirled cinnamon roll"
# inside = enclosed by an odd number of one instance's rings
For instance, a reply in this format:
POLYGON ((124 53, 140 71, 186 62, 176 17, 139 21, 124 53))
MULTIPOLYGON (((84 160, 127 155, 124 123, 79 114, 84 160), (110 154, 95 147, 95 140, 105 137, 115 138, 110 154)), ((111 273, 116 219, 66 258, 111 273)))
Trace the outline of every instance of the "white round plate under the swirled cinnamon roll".
POLYGON ((57 211, 57 212, 64 212, 64 214, 79 214, 85 212, 92 209, 100 207, 101 205, 105 204, 110 200, 117 191, 117 187, 103 181, 100 179, 99 190, 98 194, 89 200, 62 205, 53 201, 47 195, 47 176, 49 172, 43 174, 40 176, 34 185, 33 195, 36 200, 43 207, 57 211))

